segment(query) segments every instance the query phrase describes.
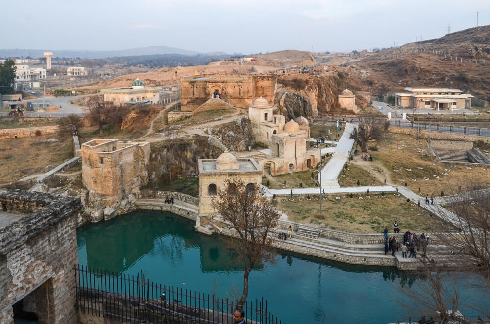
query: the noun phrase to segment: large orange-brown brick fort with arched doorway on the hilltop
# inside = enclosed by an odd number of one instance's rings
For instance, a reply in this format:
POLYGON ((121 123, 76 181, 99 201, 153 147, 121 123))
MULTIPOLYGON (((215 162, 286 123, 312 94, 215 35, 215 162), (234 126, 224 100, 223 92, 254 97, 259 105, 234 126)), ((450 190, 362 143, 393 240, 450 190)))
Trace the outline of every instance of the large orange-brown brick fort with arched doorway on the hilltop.
POLYGON ((275 74, 198 75, 180 79, 182 111, 193 111, 206 100, 221 99, 237 107, 248 107, 256 98, 274 102, 275 74))

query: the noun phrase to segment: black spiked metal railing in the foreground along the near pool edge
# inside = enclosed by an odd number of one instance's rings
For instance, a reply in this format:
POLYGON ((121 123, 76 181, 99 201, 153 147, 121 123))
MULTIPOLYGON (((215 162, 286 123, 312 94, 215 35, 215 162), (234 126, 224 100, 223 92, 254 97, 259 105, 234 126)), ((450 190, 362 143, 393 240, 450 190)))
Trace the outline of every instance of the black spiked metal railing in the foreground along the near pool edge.
MULTIPOLYGON (((129 323, 233 323, 237 301, 149 282, 147 272, 126 276, 77 265, 76 307, 79 312, 129 323)), ((283 324, 262 297, 242 307, 248 324, 283 324)))

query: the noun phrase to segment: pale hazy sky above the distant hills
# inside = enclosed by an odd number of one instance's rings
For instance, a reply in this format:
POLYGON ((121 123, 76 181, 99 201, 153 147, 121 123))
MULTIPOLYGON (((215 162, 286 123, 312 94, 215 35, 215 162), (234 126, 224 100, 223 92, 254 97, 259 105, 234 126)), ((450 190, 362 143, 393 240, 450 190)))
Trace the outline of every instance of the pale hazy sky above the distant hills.
POLYGON ((23 0, 1 11, 1 49, 350 51, 475 27, 475 11, 490 24, 490 0, 23 0))

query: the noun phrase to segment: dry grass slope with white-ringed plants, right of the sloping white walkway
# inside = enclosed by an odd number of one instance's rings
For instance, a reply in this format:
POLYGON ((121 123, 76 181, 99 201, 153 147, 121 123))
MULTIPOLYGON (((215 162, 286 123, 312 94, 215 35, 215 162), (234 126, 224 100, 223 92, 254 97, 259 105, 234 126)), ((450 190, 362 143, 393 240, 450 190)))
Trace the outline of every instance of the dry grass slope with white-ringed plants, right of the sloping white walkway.
POLYGON ((460 190, 460 186, 470 183, 489 186, 490 171, 485 169, 490 168, 437 162, 435 157, 425 155, 427 142, 423 139, 417 141, 413 136, 386 133, 378 140, 378 148, 379 152, 369 152, 374 158, 373 165, 379 163, 384 167, 394 185, 406 182, 410 190, 424 197, 426 193, 439 196, 441 191, 445 195, 453 194, 460 190), (403 147, 403 150, 396 147, 403 147))

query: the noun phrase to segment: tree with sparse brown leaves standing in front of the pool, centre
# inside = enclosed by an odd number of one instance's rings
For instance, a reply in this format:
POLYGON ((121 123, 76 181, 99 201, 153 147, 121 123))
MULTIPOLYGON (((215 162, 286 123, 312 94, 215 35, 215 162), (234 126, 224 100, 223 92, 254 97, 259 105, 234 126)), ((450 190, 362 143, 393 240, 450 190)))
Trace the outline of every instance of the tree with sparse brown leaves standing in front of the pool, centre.
POLYGON ((244 286, 239 306, 248 296, 248 277, 254 266, 274 262, 271 250, 272 232, 280 217, 279 211, 262 196, 259 185, 248 184, 240 179, 227 179, 225 189, 218 191, 213 200, 216 213, 236 231, 236 237, 221 236, 226 247, 238 254, 244 266, 244 286))

